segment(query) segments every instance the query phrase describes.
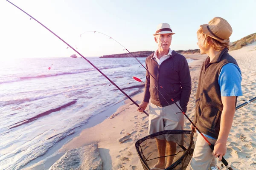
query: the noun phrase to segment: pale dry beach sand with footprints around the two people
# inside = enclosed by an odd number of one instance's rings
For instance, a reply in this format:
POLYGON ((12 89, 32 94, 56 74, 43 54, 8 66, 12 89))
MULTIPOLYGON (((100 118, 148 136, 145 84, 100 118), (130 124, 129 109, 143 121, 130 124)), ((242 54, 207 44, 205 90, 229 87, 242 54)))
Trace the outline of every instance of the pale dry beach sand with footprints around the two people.
MULTIPOLYGON (((242 91, 238 105, 256 96, 256 44, 236 51, 230 51, 236 58, 242 71, 242 91)), ((192 94, 188 103, 187 115, 193 119, 195 94, 198 76, 206 55, 186 55, 196 59, 189 64, 192 79, 192 94)), ((143 93, 132 97, 138 104, 143 100, 143 93)), ((135 150, 135 142, 148 135, 148 117, 136 111, 137 106, 126 100, 108 119, 102 123, 84 129, 81 134, 70 140, 58 150, 65 153, 70 149, 98 144, 104 170, 143 170, 135 150)), ((148 109, 146 110, 148 112, 148 109)), ((227 142, 225 159, 234 170, 256 169, 256 102, 236 111, 233 127, 227 142)), ((185 119, 185 130, 190 130, 190 123, 185 119)), ((196 140, 196 136, 194 140, 196 140)), ((219 163, 220 165, 221 163, 219 163)))

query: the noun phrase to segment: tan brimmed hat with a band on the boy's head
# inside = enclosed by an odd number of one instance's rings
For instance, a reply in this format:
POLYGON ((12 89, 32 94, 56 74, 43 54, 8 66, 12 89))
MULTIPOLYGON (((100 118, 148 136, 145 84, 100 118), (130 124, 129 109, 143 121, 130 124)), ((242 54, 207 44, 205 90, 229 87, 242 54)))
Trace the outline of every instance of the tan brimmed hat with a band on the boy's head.
POLYGON ((233 30, 227 20, 221 17, 214 17, 208 24, 201 25, 200 27, 207 36, 221 43, 230 42, 229 37, 233 30))

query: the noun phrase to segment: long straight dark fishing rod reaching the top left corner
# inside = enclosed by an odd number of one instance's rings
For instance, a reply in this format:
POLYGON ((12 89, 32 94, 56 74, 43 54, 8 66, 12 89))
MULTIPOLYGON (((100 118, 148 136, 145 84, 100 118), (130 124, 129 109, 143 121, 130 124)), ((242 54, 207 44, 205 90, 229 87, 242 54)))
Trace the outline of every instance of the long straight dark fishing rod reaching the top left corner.
MULTIPOLYGON (((20 9, 20 11, 23 11, 21 8, 19 8, 18 6, 16 6, 15 4, 13 4, 12 2, 10 2, 9 0, 6 0, 7 2, 11 3, 13 6, 15 6, 16 8, 20 9)), ((57 34, 55 34, 53 31, 51 31, 49 28, 47 28, 46 26, 44 26, 44 24, 40 23, 38 20, 36 20, 34 17, 32 17, 31 15, 29 15, 28 13, 26 13, 26 11, 23 11, 25 14, 27 14, 29 17, 31 17, 33 20, 35 20, 37 23, 39 23, 41 26, 43 26, 44 28, 46 28, 48 31, 50 31, 52 34, 54 34, 56 37, 58 37, 58 39, 60 39, 62 42, 64 42, 65 44, 67 44, 70 48, 72 48, 74 51, 76 51, 75 48, 73 48, 71 45, 69 45, 66 41, 64 41, 63 39, 61 39, 61 37, 59 37, 57 34)), ((128 94, 126 94, 124 91, 122 91, 121 88, 119 88, 111 79, 109 79, 104 73, 102 73, 102 71, 99 70, 99 68, 97 68, 95 65, 93 65, 93 63, 91 63, 87 58, 85 58, 82 54, 80 54, 78 51, 76 51, 77 54, 79 54, 81 57, 83 57, 87 62, 90 63, 90 65, 92 65, 97 71, 99 71, 106 79, 108 79, 114 86, 116 86, 116 88, 118 88, 119 91, 121 91, 126 97, 128 97, 128 99, 130 99, 137 107, 139 107, 139 105, 133 100, 131 99, 130 96, 128 96, 128 94)), ((147 116, 148 113, 146 111, 143 111, 147 116)))

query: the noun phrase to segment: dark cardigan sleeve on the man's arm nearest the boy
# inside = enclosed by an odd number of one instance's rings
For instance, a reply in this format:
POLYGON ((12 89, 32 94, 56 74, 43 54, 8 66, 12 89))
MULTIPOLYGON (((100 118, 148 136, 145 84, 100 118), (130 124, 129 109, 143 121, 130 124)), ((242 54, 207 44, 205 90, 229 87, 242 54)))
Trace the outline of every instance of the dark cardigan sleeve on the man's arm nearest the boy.
POLYGON ((189 102, 189 97, 191 94, 191 77, 189 71, 189 64, 185 57, 183 57, 183 61, 180 63, 180 83, 181 83, 181 96, 180 96, 180 106, 184 112, 187 110, 187 105, 189 102))

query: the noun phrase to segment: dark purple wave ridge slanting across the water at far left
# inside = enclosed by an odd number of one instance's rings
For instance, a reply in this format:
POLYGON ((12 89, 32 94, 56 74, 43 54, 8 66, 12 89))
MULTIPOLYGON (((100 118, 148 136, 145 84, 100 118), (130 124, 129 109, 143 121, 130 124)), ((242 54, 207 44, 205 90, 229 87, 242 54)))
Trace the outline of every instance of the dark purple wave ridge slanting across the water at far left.
POLYGON ((75 103, 76 103, 76 100, 74 100, 74 101, 72 101, 72 102, 69 102, 69 103, 67 103, 67 104, 65 104, 65 105, 62 105, 62 106, 60 106, 60 107, 58 107, 58 108, 50 109, 49 111, 40 113, 40 114, 38 114, 38 115, 36 115, 36 116, 34 116, 34 117, 31 117, 31 118, 29 118, 29 119, 25 119, 25 120, 23 120, 23 121, 17 122, 17 123, 15 123, 15 124, 11 125, 11 126, 9 127, 9 129, 12 129, 12 128, 15 128, 15 127, 19 127, 19 126, 24 125, 24 124, 27 124, 27 123, 29 123, 29 122, 33 122, 33 121, 37 120, 38 118, 41 118, 41 117, 43 117, 43 116, 47 116, 47 115, 49 115, 49 114, 52 113, 52 112, 60 111, 61 109, 67 108, 68 106, 73 105, 73 104, 75 104, 75 103))

